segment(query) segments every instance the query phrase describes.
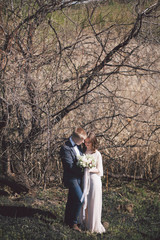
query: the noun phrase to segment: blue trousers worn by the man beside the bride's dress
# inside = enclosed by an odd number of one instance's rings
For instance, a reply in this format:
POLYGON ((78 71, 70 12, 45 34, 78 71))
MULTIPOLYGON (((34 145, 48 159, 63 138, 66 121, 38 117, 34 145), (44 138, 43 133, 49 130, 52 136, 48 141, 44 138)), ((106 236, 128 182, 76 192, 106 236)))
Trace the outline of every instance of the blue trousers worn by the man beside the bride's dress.
POLYGON ((78 216, 83 202, 81 202, 82 189, 81 180, 78 178, 72 178, 68 181, 68 199, 65 209, 65 223, 69 226, 77 224, 78 216))

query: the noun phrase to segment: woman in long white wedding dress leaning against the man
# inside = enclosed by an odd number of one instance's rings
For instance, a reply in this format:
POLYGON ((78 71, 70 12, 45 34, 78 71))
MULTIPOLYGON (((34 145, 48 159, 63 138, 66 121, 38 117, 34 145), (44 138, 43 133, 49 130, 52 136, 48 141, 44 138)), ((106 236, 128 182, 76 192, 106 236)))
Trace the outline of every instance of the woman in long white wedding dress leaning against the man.
POLYGON ((85 154, 91 154, 95 158, 96 167, 85 169, 83 224, 92 233, 104 233, 106 230, 101 223, 103 165, 101 153, 97 150, 97 139, 93 133, 85 140, 85 146, 85 154))

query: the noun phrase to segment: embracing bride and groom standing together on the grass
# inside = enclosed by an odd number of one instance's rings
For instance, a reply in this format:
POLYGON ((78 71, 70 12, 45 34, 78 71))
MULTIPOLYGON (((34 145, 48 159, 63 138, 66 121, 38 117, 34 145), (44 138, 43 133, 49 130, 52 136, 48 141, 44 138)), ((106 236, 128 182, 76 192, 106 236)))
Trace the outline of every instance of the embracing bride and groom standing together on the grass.
POLYGON ((93 133, 87 135, 81 127, 76 128, 61 147, 60 155, 64 186, 69 189, 65 224, 79 232, 80 226, 83 226, 92 233, 104 233, 105 228, 101 223, 103 165, 96 136, 93 133), (84 155, 94 158, 94 167, 84 169, 79 166, 78 159, 84 155))

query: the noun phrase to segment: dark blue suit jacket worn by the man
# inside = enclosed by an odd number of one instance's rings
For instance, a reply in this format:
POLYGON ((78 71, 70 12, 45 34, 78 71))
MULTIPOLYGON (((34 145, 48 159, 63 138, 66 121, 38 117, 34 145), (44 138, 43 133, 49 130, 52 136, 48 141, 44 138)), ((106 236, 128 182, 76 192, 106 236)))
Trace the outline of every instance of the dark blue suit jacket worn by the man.
MULTIPOLYGON (((81 147, 78 146, 80 152, 82 153, 81 147)), ((60 156, 63 164, 63 182, 66 187, 68 187, 69 180, 73 178, 82 178, 83 170, 77 166, 77 157, 74 147, 68 140, 61 147, 60 156)))

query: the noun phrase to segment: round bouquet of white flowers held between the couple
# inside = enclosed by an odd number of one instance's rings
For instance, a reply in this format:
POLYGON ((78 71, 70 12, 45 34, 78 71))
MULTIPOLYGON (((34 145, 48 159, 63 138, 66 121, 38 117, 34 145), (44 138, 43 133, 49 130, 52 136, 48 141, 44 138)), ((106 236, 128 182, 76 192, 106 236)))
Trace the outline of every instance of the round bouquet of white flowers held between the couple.
POLYGON ((78 156, 78 166, 81 168, 93 168, 96 167, 96 161, 90 154, 78 156))

